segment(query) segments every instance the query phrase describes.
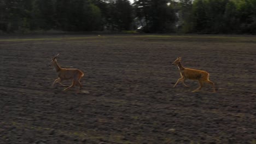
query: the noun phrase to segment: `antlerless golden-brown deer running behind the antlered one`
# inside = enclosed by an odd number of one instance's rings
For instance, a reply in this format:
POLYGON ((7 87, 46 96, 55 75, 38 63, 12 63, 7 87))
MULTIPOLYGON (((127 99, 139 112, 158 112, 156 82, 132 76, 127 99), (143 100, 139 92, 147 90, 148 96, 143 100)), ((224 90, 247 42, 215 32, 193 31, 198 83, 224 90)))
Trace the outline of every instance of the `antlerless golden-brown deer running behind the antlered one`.
POLYGON ((200 89, 203 87, 203 83, 210 83, 210 85, 212 85, 213 87, 213 92, 215 93, 215 86, 214 83, 212 81, 209 80, 209 76, 210 74, 207 73, 206 71, 203 70, 197 70, 197 69, 190 69, 190 68, 184 68, 181 64, 181 57, 178 57, 173 63, 172 65, 176 65, 179 69, 179 73, 181 74, 181 78, 179 78, 177 80, 177 82, 175 83, 175 85, 173 86, 176 87, 176 85, 179 82, 182 82, 183 85, 185 87, 189 87, 188 85, 186 85, 184 82, 186 79, 190 79, 190 80, 197 80, 199 81, 199 87, 196 88, 194 91, 192 92, 198 92, 200 91, 200 89))

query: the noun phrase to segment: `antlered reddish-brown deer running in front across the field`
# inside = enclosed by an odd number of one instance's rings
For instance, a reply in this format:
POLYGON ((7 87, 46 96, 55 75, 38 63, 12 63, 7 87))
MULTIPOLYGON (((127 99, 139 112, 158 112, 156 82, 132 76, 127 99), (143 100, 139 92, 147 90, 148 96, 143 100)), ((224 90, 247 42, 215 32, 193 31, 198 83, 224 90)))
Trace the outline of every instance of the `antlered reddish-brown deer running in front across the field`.
POLYGON ((49 66, 53 65, 53 67, 56 69, 57 76, 59 77, 53 82, 52 87, 55 85, 55 83, 60 83, 60 85, 66 86, 66 85, 63 85, 61 83, 61 81, 62 80, 73 79, 72 85, 63 89, 63 91, 67 91, 69 88, 74 87, 75 85, 79 85, 79 87, 81 89, 82 84, 80 82, 80 79, 84 76, 84 73, 79 69, 61 68, 60 65, 57 63, 57 59, 56 59, 56 57, 59 56, 59 55, 60 55, 60 53, 58 55, 54 56, 53 58, 51 58, 51 62, 49 64, 49 66))

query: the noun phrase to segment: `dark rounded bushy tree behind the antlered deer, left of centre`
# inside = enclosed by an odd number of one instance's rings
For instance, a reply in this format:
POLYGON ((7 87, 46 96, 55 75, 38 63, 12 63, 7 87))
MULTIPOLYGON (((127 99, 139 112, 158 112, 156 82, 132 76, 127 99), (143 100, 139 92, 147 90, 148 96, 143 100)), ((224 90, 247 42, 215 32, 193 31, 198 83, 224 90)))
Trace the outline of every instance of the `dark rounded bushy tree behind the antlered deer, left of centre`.
POLYGON ((101 25, 101 11, 90 1, 57 0, 56 20, 64 31, 94 31, 101 25))

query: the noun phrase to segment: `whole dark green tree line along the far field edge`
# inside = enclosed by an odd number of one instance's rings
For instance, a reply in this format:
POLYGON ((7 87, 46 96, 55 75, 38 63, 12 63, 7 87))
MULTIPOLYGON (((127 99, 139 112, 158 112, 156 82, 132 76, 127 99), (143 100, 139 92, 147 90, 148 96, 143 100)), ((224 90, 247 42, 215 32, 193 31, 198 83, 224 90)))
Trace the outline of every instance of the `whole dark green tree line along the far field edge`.
POLYGON ((256 34, 256 0, 1 0, 0 31, 256 34))

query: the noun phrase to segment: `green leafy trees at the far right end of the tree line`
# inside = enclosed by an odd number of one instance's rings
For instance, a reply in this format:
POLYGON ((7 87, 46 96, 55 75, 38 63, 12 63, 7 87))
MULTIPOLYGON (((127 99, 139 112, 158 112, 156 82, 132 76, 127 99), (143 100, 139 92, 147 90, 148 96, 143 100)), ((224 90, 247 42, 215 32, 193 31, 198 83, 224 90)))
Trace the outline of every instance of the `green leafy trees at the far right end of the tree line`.
POLYGON ((195 0, 184 32, 255 34, 255 8, 256 0, 195 0))

